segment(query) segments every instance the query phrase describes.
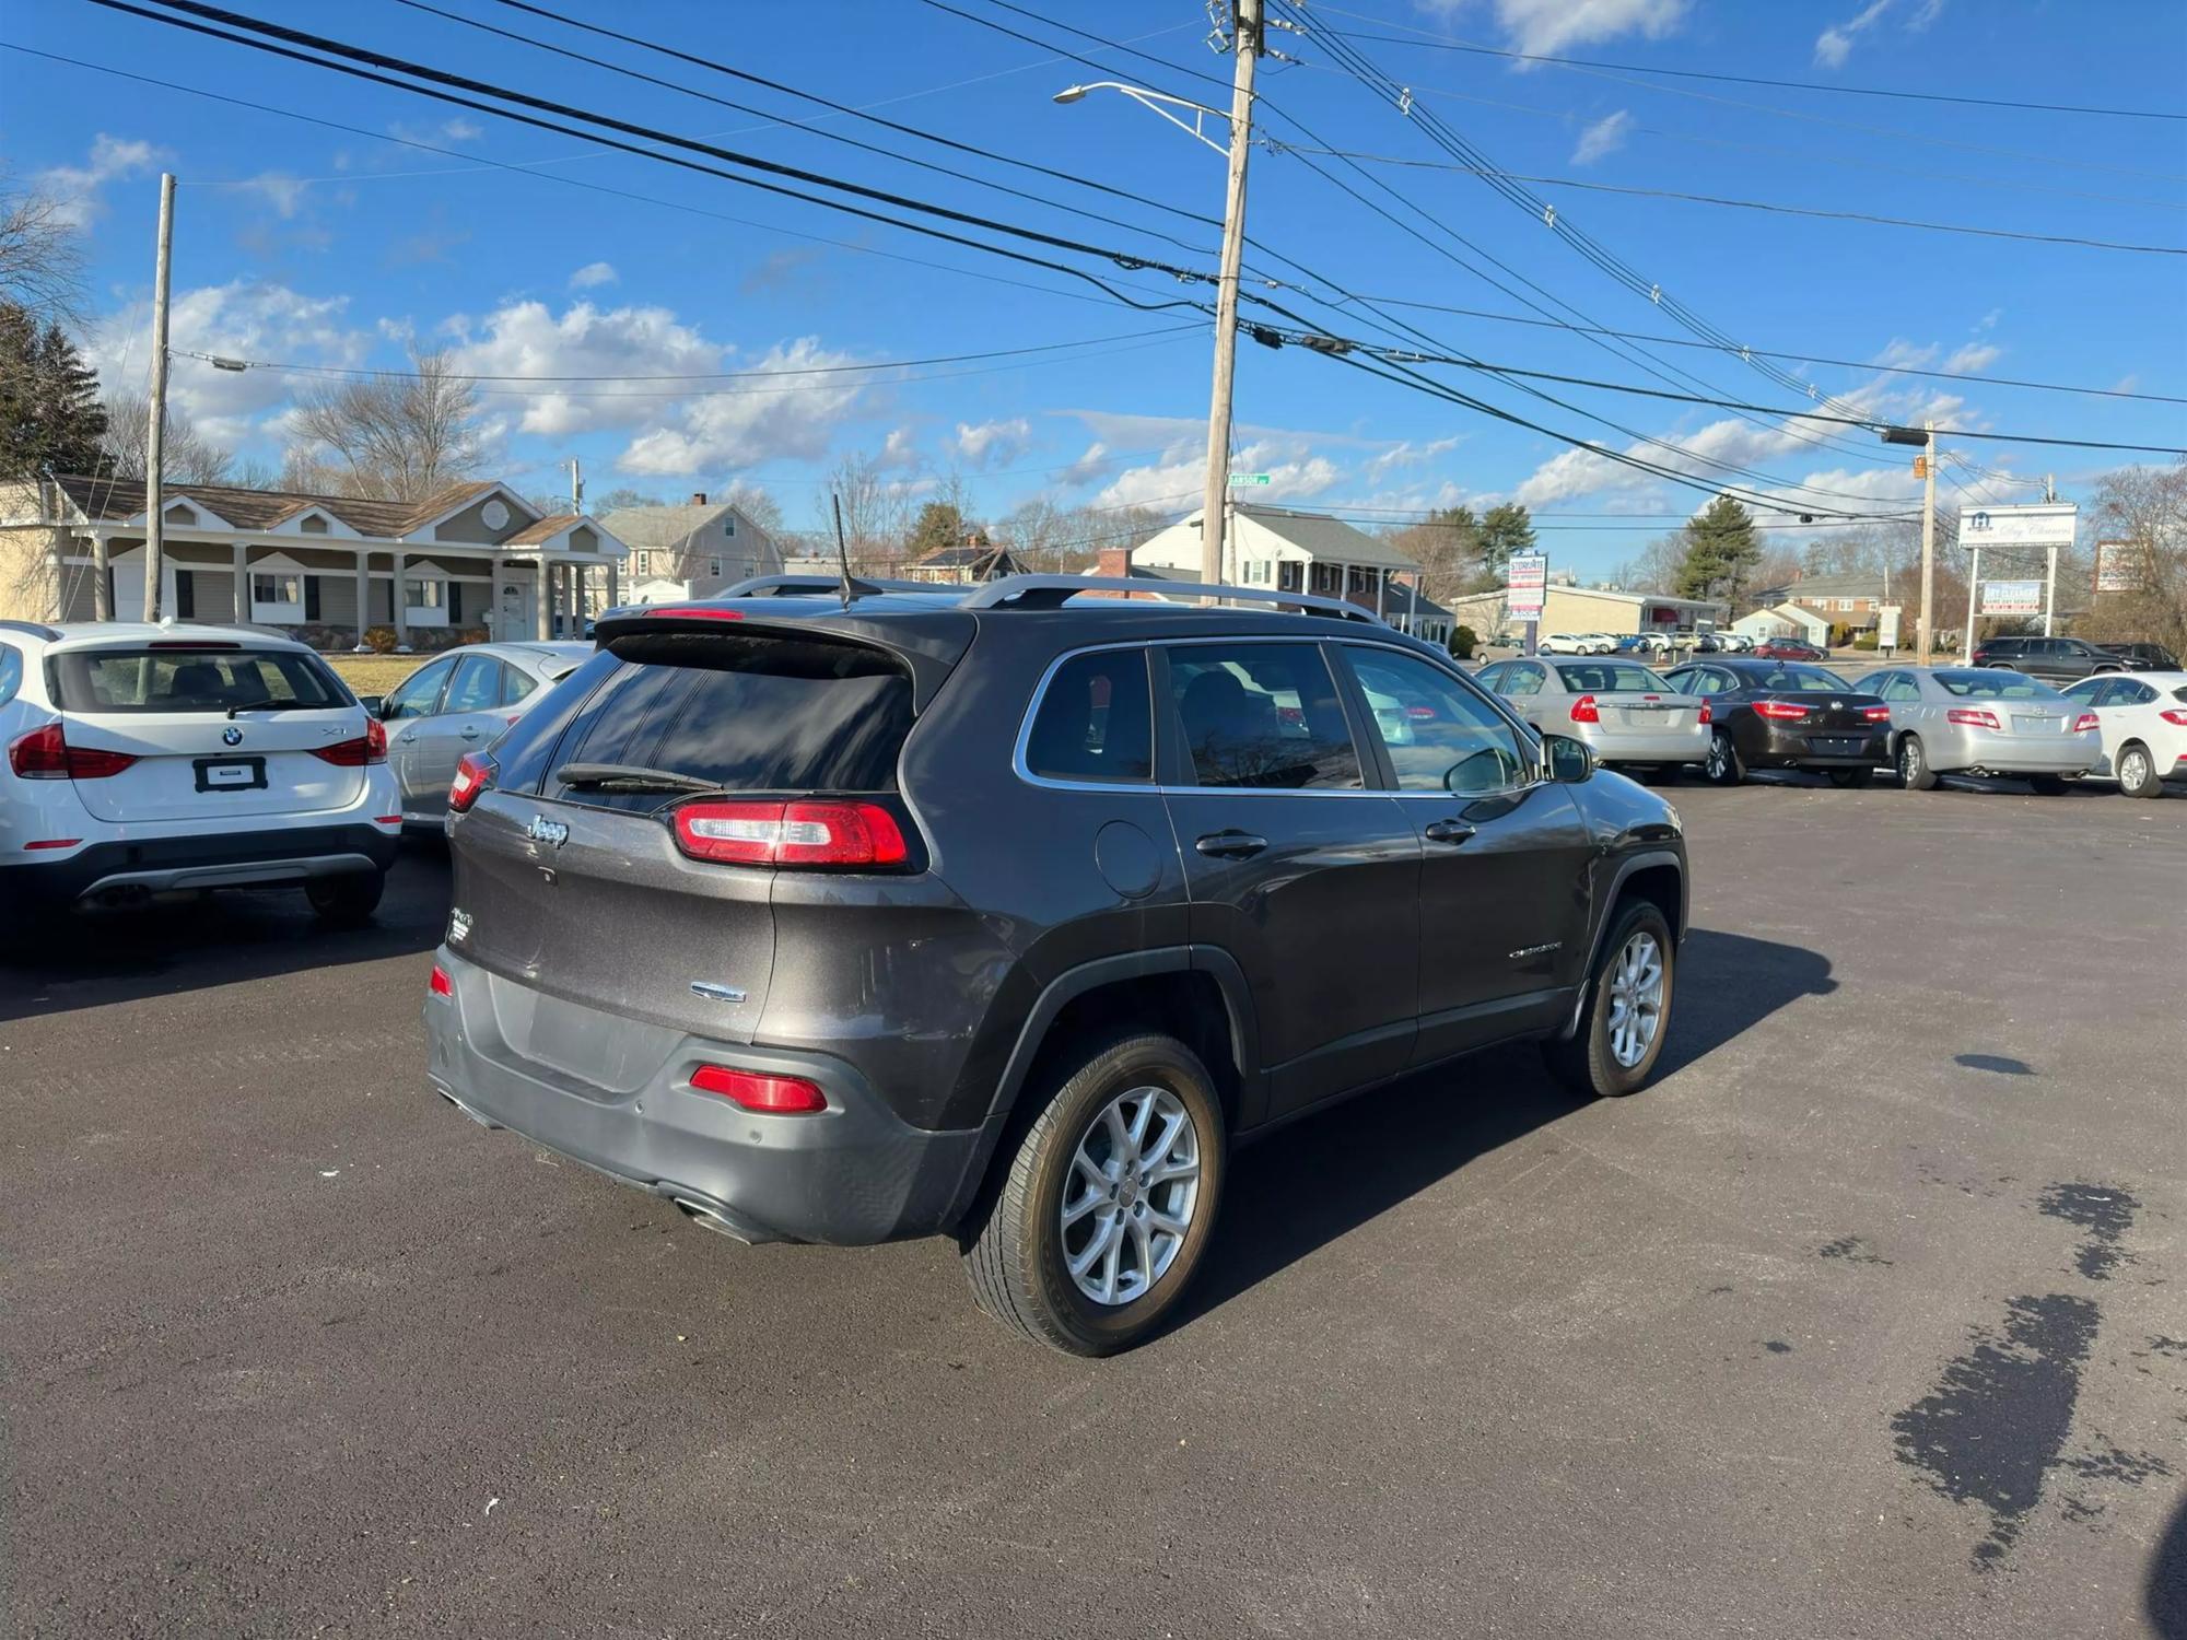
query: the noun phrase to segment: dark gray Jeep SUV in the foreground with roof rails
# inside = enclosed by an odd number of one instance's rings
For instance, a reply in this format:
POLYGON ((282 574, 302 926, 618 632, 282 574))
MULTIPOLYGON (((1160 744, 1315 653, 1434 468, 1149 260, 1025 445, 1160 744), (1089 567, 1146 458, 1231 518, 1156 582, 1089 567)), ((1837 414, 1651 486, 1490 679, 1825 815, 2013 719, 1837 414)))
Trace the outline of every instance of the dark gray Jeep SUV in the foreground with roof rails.
POLYGON ((1507 1039, 1649 1078, 1662 798, 1352 606, 1122 590, 604 617, 451 792, 433 1085, 739 1240, 951 1233, 984 1310, 1109 1354, 1240 1139, 1507 1039))

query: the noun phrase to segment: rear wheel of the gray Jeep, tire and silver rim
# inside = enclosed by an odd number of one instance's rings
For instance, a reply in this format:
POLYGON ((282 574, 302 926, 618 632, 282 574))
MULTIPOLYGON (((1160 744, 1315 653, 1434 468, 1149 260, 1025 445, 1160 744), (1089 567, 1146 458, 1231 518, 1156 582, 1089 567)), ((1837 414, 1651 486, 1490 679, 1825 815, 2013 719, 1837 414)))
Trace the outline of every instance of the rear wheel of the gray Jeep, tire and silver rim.
POLYGON ((1157 1034, 1096 1043, 1050 1089, 1015 1152, 997 1157, 1008 1172, 964 1242, 964 1277, 986 1314, 1034 1343, 1113 1356, 1161 1323, 1207 1251, 1223 1104, 1198 1056, 1157 1034), (1179 1117, 1185 1128, 1172 1128, 1179 1117), (1190 1176, 1174 1172, 1188 1146, 1190 1176))

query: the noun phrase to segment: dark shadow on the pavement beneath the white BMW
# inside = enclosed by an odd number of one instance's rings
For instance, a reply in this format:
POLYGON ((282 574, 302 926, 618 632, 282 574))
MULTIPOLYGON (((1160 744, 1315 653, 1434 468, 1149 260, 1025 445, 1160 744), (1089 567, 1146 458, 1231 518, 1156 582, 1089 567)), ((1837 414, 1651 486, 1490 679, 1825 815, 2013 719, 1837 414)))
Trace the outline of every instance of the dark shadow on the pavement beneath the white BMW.
POLYGON ((431 951, 446 921, 446 853, 418 846, 402 848, 378 912, 354 929, 321 925, 297 890, 57 912, 0 942, 0 1021, 431 951))

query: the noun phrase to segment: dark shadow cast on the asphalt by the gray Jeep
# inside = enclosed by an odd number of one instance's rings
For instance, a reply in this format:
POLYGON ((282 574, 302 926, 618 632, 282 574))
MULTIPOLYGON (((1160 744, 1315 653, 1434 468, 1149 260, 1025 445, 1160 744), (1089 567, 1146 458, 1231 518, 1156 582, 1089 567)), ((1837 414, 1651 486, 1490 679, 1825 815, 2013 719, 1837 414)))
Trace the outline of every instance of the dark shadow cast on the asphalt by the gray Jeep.
MULTIPOLYGON (((1695 929, 1680 958, 1658 1076, 1706 1058, 1800 997, 1837 988, 1820 951, 1745 934, 1695 929)), ((1244 1146, 1225 1181, 1223 1227, 1207 1266, 1166 1332, 1586 1104, 1544 1069, 1531 1043, 1511 1043, 1406 1076, 1244 1146)))

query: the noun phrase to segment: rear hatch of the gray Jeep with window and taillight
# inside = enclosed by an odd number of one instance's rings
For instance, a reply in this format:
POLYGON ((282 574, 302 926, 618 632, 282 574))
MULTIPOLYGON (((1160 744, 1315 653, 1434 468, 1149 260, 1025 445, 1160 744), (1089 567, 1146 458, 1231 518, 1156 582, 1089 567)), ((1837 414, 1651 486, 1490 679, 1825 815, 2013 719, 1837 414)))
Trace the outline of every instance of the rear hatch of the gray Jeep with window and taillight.
POLYGON ((623 1091, 685 1032, 748 1043, 776 877, 923 868, 897 757, 932 656, 855 625, 601 623, 599 654, 466 759, 488 785, 453 805, 451 945, 510 1056, 623 1091))

